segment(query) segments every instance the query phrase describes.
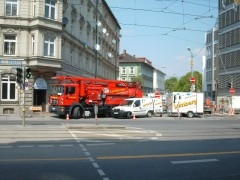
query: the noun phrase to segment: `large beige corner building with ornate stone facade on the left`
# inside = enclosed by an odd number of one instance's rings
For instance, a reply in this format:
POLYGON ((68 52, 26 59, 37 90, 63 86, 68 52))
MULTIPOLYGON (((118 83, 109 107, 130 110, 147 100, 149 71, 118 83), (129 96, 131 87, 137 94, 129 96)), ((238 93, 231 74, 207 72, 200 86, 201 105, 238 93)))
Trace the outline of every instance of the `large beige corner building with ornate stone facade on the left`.
POLYGON ((1 0, 0 114, 47 110, 54 75, 116 79, 119 33, 104 0, 1 0), (31 69, 25 90, 16 68, 31 69))

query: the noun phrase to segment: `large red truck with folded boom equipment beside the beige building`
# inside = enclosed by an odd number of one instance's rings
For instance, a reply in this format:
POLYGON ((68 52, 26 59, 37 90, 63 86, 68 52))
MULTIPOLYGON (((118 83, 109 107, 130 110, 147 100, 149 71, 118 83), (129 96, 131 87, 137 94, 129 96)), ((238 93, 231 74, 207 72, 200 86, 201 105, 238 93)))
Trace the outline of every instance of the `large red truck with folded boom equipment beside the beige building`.
POLYGON ((138 82, 85 78, 75 76, 52 77, 49 112, 60 117, 84 118, 87 115, 111 116, 112 108, 124 99, 142 97, 138 82), (97 111, 96 111, 97 107, 97 111))

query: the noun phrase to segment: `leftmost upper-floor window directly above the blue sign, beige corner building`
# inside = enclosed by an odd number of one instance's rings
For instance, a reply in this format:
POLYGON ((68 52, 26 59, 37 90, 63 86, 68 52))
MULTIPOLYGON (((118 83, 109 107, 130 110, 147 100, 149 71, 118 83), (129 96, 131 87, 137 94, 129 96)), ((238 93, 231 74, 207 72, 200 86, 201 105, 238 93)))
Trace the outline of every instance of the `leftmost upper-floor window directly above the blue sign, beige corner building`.
POLYGON ((16 36, 5 35, 4 36, 4 55, 15 55, 16 51, 16 36))

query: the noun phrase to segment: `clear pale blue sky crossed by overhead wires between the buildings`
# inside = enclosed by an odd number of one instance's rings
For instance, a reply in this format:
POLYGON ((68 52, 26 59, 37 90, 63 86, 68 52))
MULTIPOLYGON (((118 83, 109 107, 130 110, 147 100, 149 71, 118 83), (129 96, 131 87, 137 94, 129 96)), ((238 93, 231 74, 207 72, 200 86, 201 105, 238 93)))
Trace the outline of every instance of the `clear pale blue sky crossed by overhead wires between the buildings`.
POLYGON ((205 34, 217 23, 217 0, 106 2, 121 26, 120 54, 126 50, 150 60, 166 79, 180 78, 191 70, 202 73, 205 34))

